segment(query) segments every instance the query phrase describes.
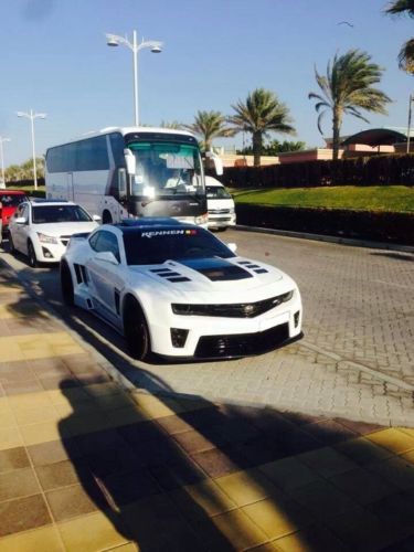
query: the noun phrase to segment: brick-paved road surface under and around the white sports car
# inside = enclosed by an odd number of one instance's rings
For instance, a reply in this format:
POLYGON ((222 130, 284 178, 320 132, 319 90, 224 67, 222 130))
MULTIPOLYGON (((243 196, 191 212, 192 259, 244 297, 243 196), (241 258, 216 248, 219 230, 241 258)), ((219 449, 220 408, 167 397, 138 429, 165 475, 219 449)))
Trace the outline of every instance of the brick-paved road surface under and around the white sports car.
POLYGON ((178 393, 209 400, 414 426, 412 254, 242 231, 220 237, 298 282, 305 306, 302 341, 235 361, 135 363, 113 330, 88 314, 62 308, 55 268, 32 270, 23 259, 6 252, 2 256, 138 386, 151 390, 152 378, 159 375, 178 393))

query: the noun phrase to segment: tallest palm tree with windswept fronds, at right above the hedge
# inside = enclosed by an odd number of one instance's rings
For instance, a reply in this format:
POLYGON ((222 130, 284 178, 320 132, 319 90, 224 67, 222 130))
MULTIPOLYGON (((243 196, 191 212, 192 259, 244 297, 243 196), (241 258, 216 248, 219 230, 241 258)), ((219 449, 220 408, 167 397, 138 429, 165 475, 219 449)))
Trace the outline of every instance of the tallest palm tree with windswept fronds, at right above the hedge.
POLYGON ((321 121, 327 110, 332 112, 333 159, 338 159, 339 134, 344 114, 369 123, 360 109, 386 114, 385 104, 391 102, 389 96, 372 85, 379 83, 383 70, 371 63, 371 56, 359 50, 349 50, 343 55, 336 54, 332 62, 328 62, 327 74, 320 75, 315 68, 316 82, 322 94, 311 92, 309 99, 316 99, 315 109, 318 115, 320 134, 321 121))

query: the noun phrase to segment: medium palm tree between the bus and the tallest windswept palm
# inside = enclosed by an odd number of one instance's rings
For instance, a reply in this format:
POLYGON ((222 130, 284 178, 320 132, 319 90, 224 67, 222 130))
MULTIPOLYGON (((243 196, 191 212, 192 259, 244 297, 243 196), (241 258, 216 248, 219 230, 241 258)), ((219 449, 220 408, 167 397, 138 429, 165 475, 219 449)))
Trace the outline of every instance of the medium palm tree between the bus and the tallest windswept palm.
POLYGON ((245 103, 238 100, 232 105, 235 115, 227 118, 237 132, 252 134, 254 166, 259 167, 263 149, 263 139, 270 131, 295 134, 291 126, 289 109, 278 100, 277 96, 265 88, 256 88, 248 94, 245 103))

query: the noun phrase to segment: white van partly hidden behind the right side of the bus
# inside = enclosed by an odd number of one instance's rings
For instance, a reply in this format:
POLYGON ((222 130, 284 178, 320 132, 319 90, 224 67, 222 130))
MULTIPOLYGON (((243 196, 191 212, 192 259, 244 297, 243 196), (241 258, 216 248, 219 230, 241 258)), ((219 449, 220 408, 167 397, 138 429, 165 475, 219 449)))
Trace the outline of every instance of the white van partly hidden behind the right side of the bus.
POLYGON ((224 185, 213 177, 205 177, 209 230, 225 230, 236 223, 234 201, 224 185))

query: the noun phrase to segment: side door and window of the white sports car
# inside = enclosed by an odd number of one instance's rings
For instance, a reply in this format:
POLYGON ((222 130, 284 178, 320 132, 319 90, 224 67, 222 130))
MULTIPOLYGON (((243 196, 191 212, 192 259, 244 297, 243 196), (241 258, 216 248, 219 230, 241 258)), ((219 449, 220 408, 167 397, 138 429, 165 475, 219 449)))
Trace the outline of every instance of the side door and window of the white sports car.
POLYGON ((93 288, 95 308, 102 316, 118 326, 120 322, 119 296, 124 287, 118 238, 115 233, 102 230, 94 234, 89 244, 95 254, 86 262, 86 268, 93 288), (98 254, 104 252, 113 253, 118 264, 99 258, 98 254))

